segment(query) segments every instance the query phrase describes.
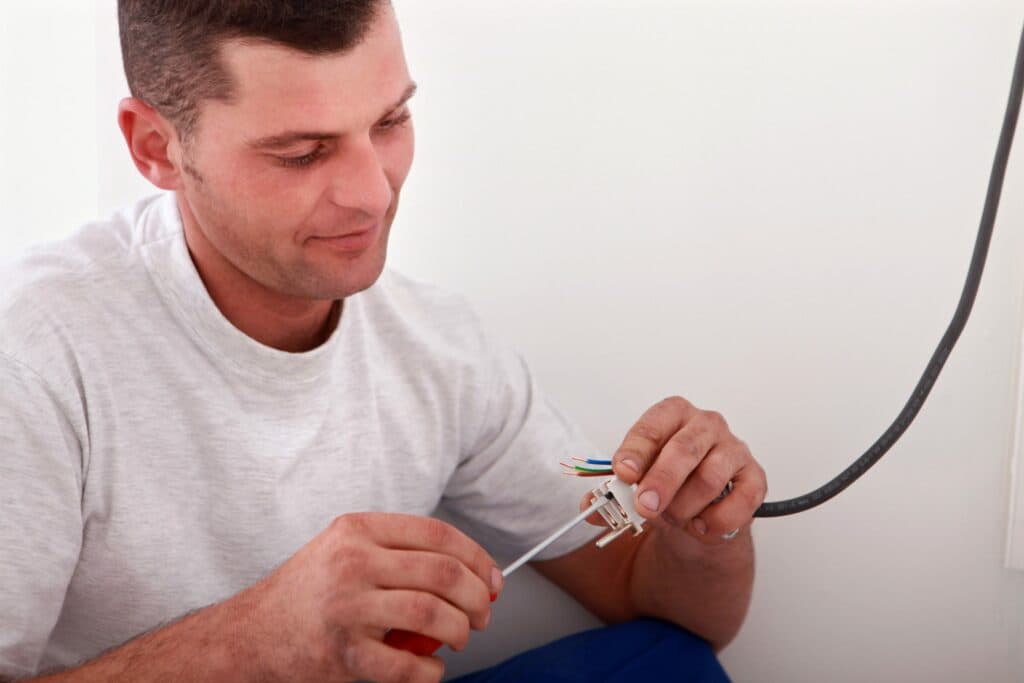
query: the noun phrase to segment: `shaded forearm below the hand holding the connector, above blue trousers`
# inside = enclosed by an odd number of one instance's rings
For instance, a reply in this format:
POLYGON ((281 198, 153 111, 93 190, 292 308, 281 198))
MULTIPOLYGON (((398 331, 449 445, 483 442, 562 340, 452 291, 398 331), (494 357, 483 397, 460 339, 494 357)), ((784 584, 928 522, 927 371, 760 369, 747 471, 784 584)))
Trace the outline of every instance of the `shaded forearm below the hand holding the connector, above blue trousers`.
POLYGON ((753 589, 750 526, 729 543, 714 547, 681 529, 651 529, 634 555, 630 572, 630 601, 639 613, 674 622, 716 650, 739 632, 753 589))

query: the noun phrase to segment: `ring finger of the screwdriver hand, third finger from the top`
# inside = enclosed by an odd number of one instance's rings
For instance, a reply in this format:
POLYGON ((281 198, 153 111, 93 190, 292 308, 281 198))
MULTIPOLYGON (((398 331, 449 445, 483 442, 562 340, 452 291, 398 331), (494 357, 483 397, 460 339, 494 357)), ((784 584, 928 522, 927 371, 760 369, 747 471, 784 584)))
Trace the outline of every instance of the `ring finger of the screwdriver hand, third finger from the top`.
POLYGON ((446 600, 423 591, 373 591, 358 605, 371 628, 400 629, 439 640, 454 650, 469 642, 469 616, 446 600))

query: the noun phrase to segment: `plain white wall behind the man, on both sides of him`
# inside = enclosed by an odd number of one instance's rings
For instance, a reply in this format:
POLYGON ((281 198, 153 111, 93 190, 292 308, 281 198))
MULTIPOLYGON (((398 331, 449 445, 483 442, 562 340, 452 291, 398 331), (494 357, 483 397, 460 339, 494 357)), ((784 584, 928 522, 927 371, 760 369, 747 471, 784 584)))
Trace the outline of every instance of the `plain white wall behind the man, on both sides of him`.
MULTIPOLYGON (((681 393, 726 415, 779 499, 882 432, 959 294, 1020 3, 397 6, 421 90, 392 264, 467 294, 600 447, 681 393)), ((115 39, 113 0, 0 8, 0 258, 144 191, 115 39)), ((1005 568, 1018 142, 974 317, 918 422, 835 501, 756 524, 737 681, 1024 680, 1024 572, 1005 568)), ((503 609, 512 635, 455 670, 585 624, 503 609)))

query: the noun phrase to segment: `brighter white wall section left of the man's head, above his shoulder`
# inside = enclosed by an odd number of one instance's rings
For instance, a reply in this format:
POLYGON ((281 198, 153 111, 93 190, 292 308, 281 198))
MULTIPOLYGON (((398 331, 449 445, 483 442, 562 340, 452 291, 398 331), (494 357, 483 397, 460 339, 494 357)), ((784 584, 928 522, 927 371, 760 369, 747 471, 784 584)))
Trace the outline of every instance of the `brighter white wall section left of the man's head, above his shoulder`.
POLYGON ((0 261, 96 213, 93 3, 0 3, 0 261))

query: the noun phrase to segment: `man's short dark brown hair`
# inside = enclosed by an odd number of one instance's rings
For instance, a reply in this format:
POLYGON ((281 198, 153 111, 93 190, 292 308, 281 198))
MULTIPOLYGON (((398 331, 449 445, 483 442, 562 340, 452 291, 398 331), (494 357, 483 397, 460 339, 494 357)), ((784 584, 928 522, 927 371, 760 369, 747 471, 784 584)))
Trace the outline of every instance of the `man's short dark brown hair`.
POLYGON ((121 55, 131 94, 187 139, 207 99, 230 101, 219 59, 226 40, 285 45, 307 54, 361 42, 387 0, 118 0, 121 55))

